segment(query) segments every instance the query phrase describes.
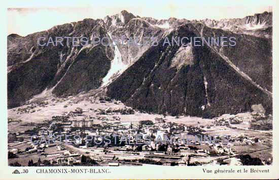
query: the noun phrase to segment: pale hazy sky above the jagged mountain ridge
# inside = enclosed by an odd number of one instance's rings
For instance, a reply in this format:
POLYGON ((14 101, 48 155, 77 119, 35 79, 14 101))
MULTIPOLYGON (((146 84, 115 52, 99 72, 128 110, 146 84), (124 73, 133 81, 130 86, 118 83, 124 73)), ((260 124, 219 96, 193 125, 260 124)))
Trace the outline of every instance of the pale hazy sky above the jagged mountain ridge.
POLYGON ((10 1, 8 34, 22 36, 43 31, 58 24, 80 21, 85 18, 103 18, 126 10, 141 17, 168 19, 222 19, 243 18, 255 13, 271 11, 272 1, 10 1), (53 2, 53 3, 52 3, 53 2), (55 3, 54 3, 55 2, 55 3), (75 7, 75 8, 74 8, 75 7))

